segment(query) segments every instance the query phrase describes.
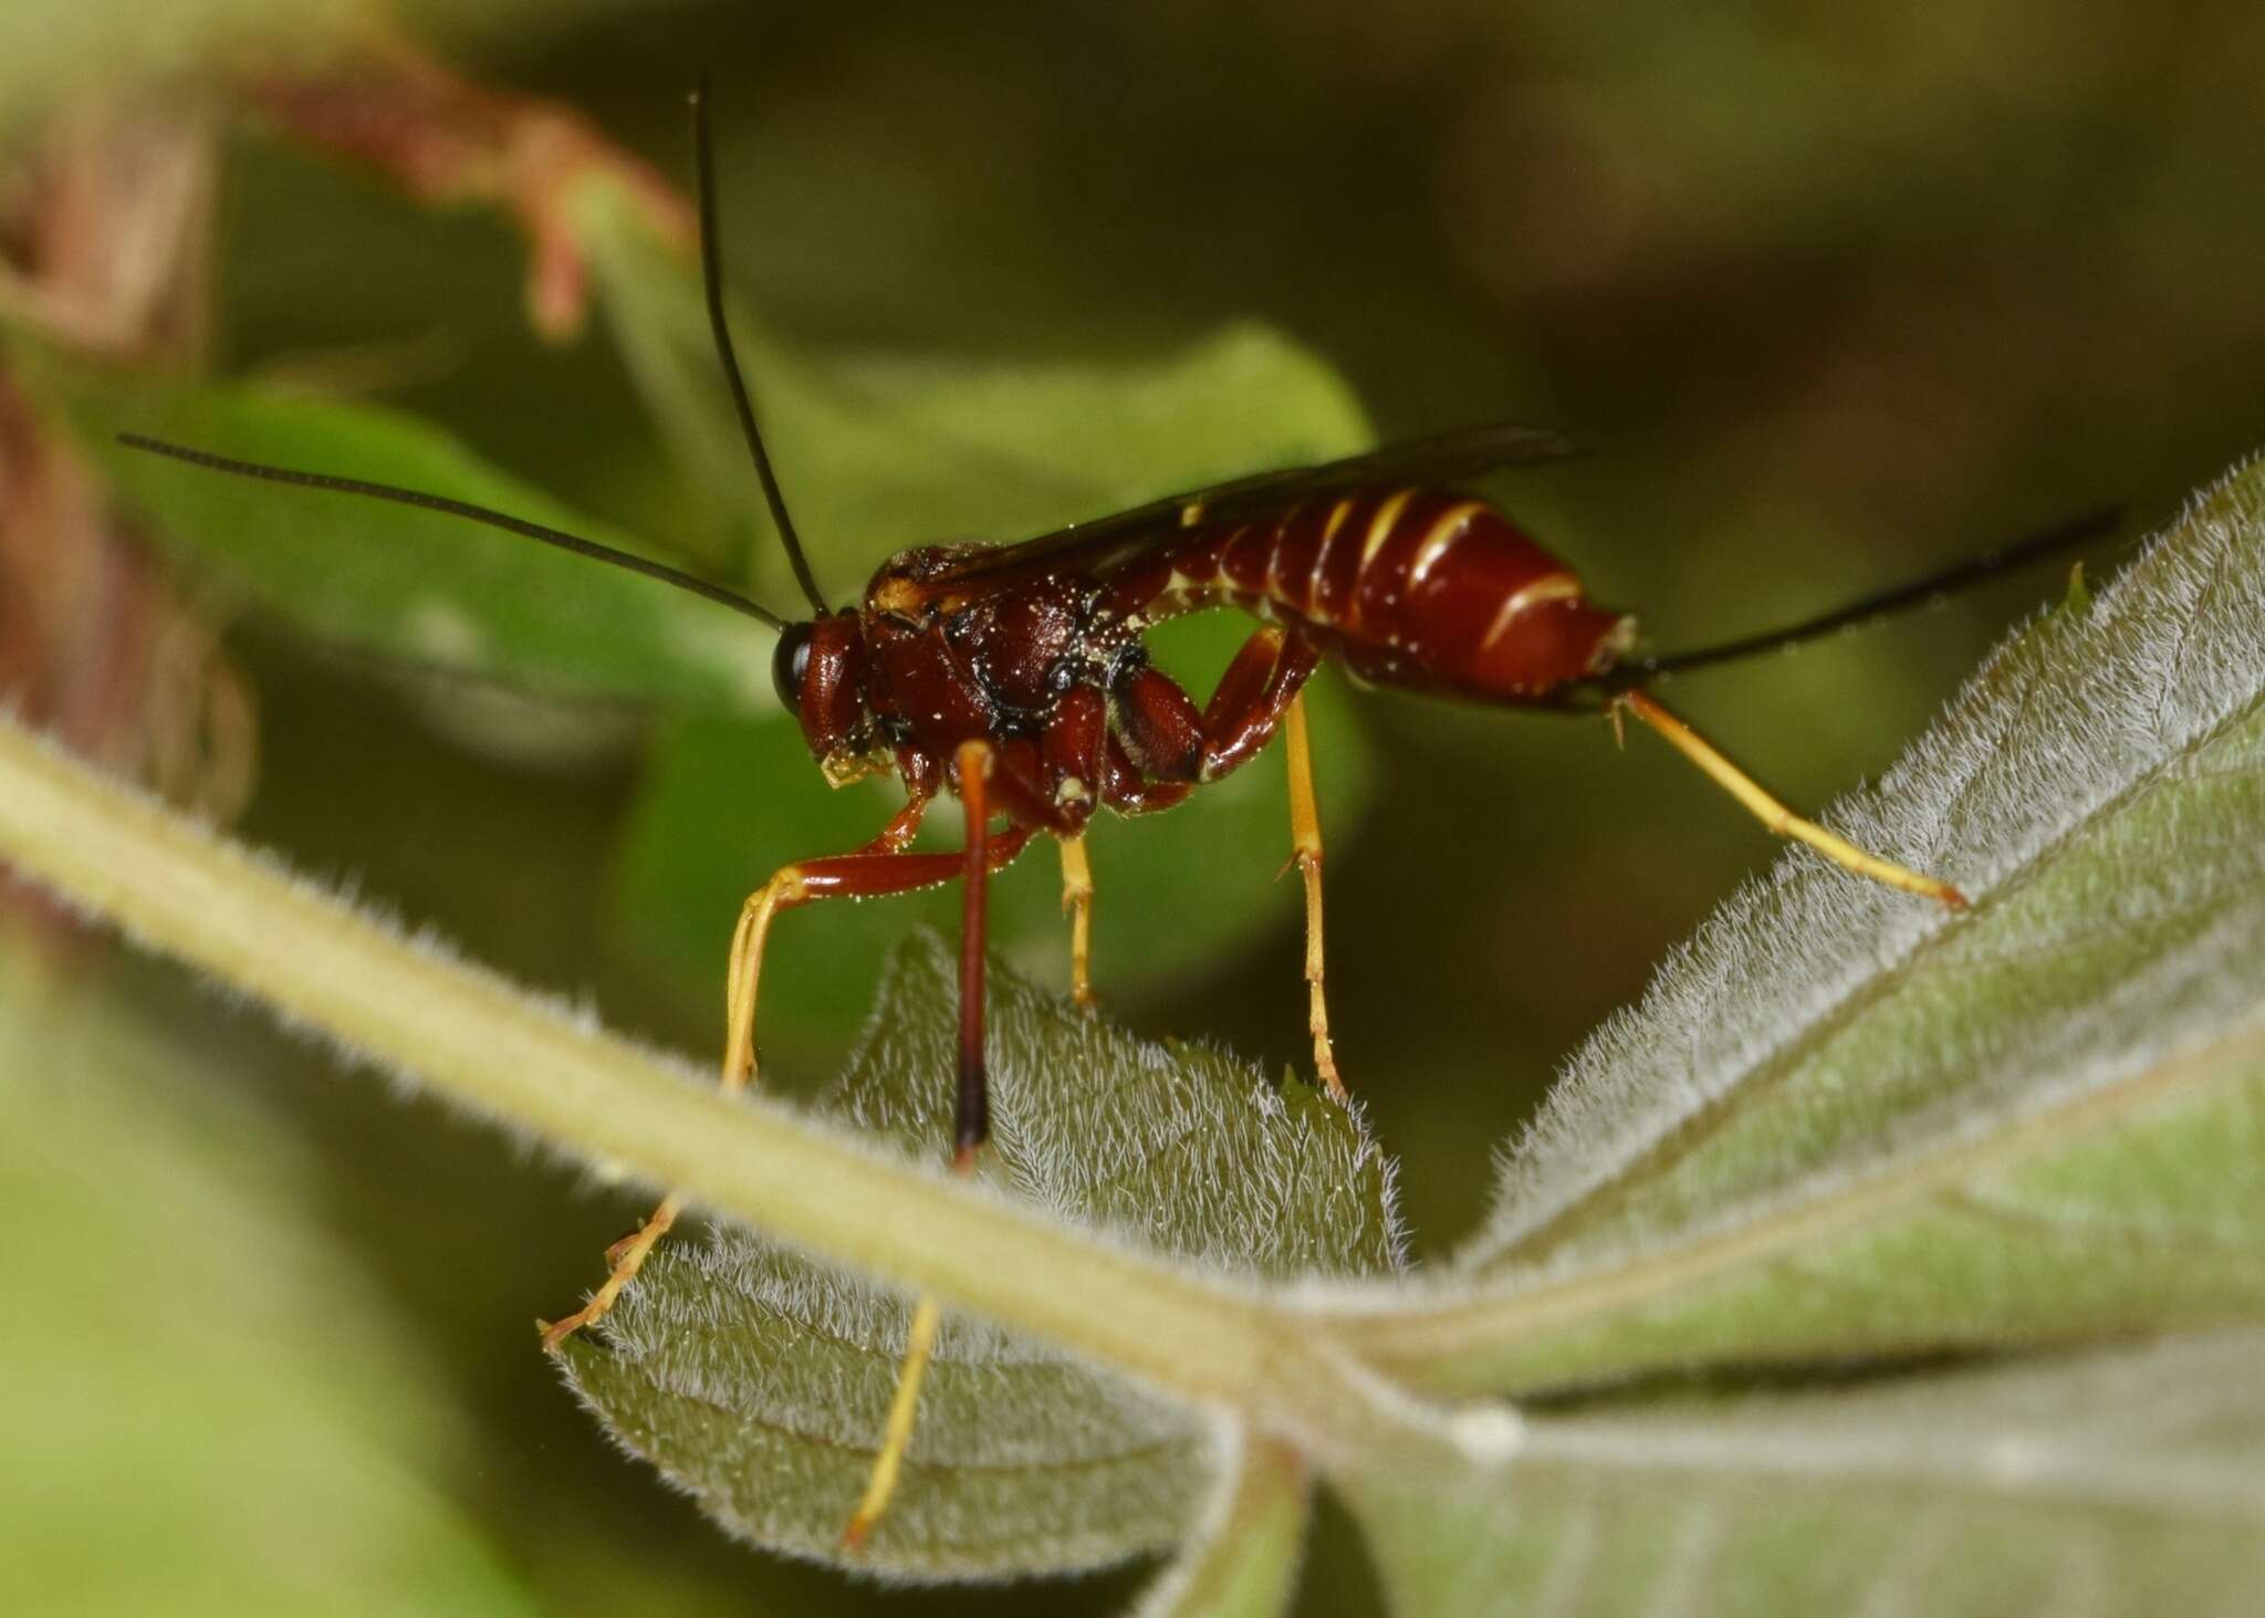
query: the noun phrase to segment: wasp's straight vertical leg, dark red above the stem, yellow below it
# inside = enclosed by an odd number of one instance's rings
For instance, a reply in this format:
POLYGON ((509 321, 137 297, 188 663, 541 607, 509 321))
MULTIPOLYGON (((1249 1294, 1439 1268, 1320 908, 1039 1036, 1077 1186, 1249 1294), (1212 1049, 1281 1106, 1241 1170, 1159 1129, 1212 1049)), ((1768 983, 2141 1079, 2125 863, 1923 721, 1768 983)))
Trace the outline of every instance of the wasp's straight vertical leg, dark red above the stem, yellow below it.
MULTIPOLYGON (((999 843, 1022 838, 1028 832, 1008 832, 990 838, 990 773, 992 746, 974 739, 963 741, 958 757, 960 804, 967 811, 967 845, 956 854, 960 861, 960 1092, 951 1124, 951 1172, 974 1174, 976 1153, 990 1138, 990 1072, 983 1061, 983 963, 988 943, 990 872, 1006 861, 997 857, 999 843)), ((1012 859, 1012 854, 1008 854, 1012 859)), ((929 1355, 935 1351, 935 1330, 942 1310, 935 1298, 922 1294, 913 1305, 913 1326, 904 1344, 904 1364, 897 1371, 897 1394, 888 1405, 888 1425, 881 1432, 881 1450, 872 1457, 872 1473, 865 1480, 865 1498, 858 1500, 849 1525, 843 1530, 843 1548, 858 1550, 870 1536, 881 1514, 888 1511, 897 1493, 897 1478, 904 1473, 904 1453, 913 1444, 913 1419, 920 1412, 920 1382, 929 1373, 929 1355)))

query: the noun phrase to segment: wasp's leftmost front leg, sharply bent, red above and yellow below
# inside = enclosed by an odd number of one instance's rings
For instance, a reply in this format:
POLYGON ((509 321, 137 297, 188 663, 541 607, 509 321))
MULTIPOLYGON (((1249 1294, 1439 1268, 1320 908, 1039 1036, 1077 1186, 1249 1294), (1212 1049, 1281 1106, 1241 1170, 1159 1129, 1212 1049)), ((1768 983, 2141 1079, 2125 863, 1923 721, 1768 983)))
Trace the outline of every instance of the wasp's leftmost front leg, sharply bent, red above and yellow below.
MULTIPOLYGON (((901 816, 899 816, 901 823, 901 816)), ((892 832, 899 823, 892 823, 892 832)), ((890 834, 877 838, 886 843, 890 834)), ((911 829, 904 829, 904 841, 911 829)), ((1006 832, 988 848, 988 859, 1003 866, 1028 843, 1028 832, 1006 832)), ((725 1051, 723 1090, 736 1095, 754 1081, 754 990, 763 972, 763 945, 770 938, 770 920, 779 911, 818 900, 872 900, 890 893, 913 893, 917 888, 940 888, 963 872, 960 854, 906 854, 890 848, 867 848, 856 854, 831 854, 827 859, 804 859, 781 866, 770 882, 747 895, 738 911, 738 927, 732 934, 732 965, 725 988, 725 1051)), ((589 1301, 573 1314, 539 1323, 544 1348, 557 1348, 566 1337, 591 1321, 605 1317, 621 1296, 621 1289, 636 1280, 652 1246, 668 1235, 668 1228, 684 1212, 684 1197, 670 1192, 661 1206, 627 1237, 607 1249, 607 1276, 589 1301)))

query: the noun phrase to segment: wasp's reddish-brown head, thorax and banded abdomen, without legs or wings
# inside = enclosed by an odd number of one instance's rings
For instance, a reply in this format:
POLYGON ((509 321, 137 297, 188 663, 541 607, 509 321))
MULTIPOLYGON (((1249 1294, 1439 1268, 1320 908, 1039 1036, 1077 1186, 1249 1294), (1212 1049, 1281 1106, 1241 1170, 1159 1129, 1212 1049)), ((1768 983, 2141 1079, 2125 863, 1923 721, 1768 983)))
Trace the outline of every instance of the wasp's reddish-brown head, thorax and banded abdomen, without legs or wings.
POLYGON ((1590 605, 1502 512, 1425 487, 1200 501, 1128 533, 904 551, 854 612, 781 657, 781 696, 834 780, 895 768, 915 800, 965 741, 997 807, 1076 836, 1096 807, 1166 809, 1266 746, 1320 659, 1354 678, 1556 705, 1633 623, 1590 605), (1205 707, 1148 666, 1148 625, 1207 607, 1262 619, 1205 707))

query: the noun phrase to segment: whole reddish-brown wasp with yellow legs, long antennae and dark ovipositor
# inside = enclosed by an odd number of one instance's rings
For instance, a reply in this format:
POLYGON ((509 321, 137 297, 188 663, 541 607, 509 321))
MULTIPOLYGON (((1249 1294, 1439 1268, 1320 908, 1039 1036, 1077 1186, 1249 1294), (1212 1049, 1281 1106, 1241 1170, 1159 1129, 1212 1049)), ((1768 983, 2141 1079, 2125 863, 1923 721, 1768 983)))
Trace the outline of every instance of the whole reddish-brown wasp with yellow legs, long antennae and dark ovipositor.
MULTIPOLYGON (((829 782, 895 773, 904 809, 845 854, 777 870, 741 906, 725 990, 723 1088, 754 1081, 754 1006, 772 918, 831 897, 965 886, 960 925, 958 1108, 954 1167, 969 1172, 988 1129, 983 1058, 985 886, 1033 836, 1062 859, 1071 913, 1071 993, 1092 1004, 1094 884, 1083 834, 1099 809, 1153 814, 1257 757, 1275 732, 1289 759, 1291 850, 1305 882, 1305 979, 1314 1065, 1343 1099, 1330 1047, 1323 972, 1320 820, 1302 687, 1323 662, 1361 682, 1472 702, 1633 716, 1728 789, 1773 834, 1807 843, 1846 870, 1964 906, 1946 879, 1896 866, 1796 816, 1676 718, 1647 684, 1796 646, 1923 603, 1989 571, 2104 535, 2097 510, 1930 578, 1866 596, 1803 623, 1669 657, 1635 655, 1635 619, 1588 601, 1581 580, 1504 512, 1456 485, 1572 446, 1554 433, 1479 426, 1391 444, 1318 467, 1262 471, 1176 494, 1008 546, 920 546, 883 562, 852 607, 829 607, 786 512, 763 449, 723 308, 716 179, 704 95, 693 97, 700 261, 725 381, 763 496, 811 616, 786 616, 711 580, 541 523, 417 489, 267 467, 125 435, 136 449, 272 483, 362 494, 505 528, 632 569, 777 630, 772 662, 829 782), (1239 607, 1259 628, 1207 702, 1148 664, 1146 630, 1169 616, 1239 607), (929 807, 958 795, 960 852, 915 852, 929 807), (1003 825, 994 827, 994 820, 1003 825)), ((544 1344, 600 1319, 682 1212, 670 1194, 607 1253, 609 1274, 544 1344)), ((881 1518, 913 1432, 920 1380, 940 1312, 922 1298, 881 1453, 845 1541, 881 1518)))

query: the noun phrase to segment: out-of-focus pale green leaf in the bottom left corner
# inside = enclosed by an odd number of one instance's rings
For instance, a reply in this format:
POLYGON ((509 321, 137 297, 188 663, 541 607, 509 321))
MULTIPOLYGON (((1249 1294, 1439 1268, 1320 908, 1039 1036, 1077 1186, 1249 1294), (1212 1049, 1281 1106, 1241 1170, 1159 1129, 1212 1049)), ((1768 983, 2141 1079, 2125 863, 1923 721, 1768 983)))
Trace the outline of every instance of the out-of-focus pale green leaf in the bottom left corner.
POLYGON ((535 1611, 299 1142, 118 999, 0 963, 9 1611, 535 1611))

